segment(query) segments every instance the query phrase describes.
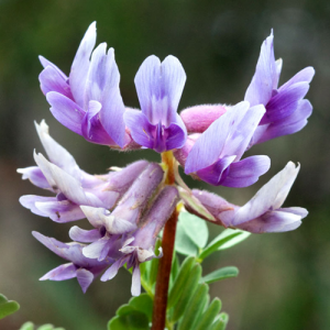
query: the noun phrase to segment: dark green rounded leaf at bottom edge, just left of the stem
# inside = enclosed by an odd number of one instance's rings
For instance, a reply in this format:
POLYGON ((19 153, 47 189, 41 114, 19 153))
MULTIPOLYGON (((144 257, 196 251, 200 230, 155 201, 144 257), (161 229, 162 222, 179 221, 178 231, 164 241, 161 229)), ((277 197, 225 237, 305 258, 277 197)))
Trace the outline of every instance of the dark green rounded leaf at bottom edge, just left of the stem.
POLYGON ((108 330, 147 330, 148 319, 145 314, 134 310, 117 316, 108 322, 108 330))

